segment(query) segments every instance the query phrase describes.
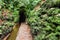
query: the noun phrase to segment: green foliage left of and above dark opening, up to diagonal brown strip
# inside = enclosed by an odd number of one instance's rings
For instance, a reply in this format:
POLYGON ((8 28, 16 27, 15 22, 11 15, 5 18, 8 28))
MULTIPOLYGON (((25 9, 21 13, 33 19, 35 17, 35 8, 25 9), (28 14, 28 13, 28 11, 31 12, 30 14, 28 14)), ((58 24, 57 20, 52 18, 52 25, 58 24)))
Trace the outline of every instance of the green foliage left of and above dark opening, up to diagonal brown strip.
POLYGON ((28 13, 34 9, 39 1, 40 0, 0 0, 0 40, 12 31, 15 23, 19 22, 20 7, 24 6, 26 13, 28 13), (29 11, 27 12, 27 10, 29 11))

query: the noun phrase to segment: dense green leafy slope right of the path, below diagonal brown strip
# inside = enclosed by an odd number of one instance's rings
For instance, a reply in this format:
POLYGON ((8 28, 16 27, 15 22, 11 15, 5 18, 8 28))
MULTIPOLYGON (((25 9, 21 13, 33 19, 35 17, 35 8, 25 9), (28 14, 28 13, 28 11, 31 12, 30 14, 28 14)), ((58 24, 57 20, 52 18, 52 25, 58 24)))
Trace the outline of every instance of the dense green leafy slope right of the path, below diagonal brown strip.
POLYGON ((46 0, 38 11, 31 10, 27 21, 34 40, 60 40, 59 0, 46 0), (57 36, 58 35, 58 36, 57 36))

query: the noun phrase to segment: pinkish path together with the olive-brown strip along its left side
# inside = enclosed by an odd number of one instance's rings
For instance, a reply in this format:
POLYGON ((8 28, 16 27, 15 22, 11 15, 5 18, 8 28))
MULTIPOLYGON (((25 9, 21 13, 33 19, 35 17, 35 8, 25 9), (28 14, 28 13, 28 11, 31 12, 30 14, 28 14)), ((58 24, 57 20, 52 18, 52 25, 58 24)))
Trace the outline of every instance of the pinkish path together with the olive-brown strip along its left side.
POLYGON ((33 40, 30 27, 26 23, 21 23, 20 27, 16 25, 9 35, 3 40, 33 40))

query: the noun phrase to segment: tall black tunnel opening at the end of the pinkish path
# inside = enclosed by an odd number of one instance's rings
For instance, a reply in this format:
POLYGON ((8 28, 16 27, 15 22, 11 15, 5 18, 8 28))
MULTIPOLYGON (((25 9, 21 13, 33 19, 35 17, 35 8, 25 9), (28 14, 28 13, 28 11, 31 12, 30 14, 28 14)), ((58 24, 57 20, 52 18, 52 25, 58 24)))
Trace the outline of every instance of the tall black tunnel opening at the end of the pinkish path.
POLYGON ((25 22, 25 20, 26 20, 26 13, 25 12, 26 12, 25 7, 24 6, 20 7, 20 10, 19 10, 19 24, 25 22))

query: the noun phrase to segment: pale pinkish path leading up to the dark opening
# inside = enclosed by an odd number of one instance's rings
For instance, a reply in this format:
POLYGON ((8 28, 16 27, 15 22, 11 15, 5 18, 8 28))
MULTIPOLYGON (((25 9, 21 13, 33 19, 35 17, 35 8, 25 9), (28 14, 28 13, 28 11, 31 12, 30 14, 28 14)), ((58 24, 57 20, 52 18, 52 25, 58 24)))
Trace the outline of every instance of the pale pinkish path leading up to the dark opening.
POLYGON ((16 40, 33 40, 30 27, 25 23, 21 23, 16 40))

